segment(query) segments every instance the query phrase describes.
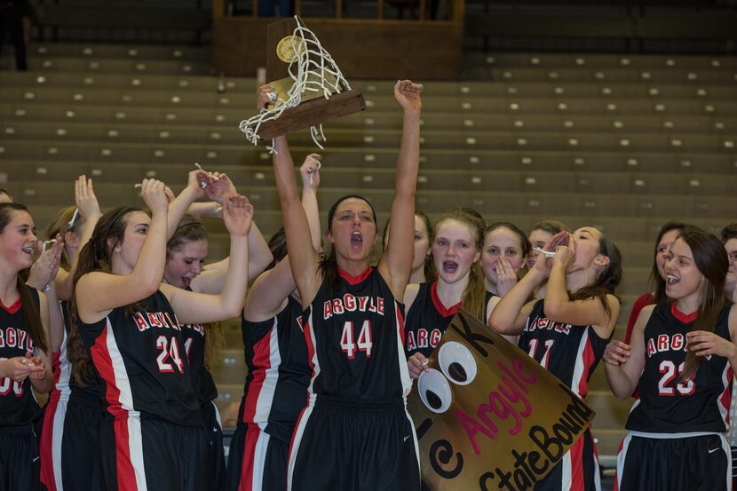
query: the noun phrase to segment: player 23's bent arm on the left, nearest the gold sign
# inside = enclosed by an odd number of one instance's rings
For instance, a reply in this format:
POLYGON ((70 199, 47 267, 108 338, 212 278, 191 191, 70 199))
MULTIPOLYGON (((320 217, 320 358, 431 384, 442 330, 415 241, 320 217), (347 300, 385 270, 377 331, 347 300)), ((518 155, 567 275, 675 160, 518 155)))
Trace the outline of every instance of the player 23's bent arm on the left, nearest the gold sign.
POLYGON ((654 305, 648 305, 640 311, 635 327, 632 328, 629 357, 612 356, 609 350, 603 357, 606 382, 618 400, 629 398, 638 386, 639 377, 645 368, 645 326, 650 321, 654 308, 654 305))

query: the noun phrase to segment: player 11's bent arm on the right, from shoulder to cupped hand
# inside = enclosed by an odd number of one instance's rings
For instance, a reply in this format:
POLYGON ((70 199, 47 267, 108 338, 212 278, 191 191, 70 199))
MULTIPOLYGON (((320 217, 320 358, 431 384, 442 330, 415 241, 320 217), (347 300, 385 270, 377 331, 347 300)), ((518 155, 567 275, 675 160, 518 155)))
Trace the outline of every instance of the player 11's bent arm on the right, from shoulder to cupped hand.
MULTIPOLYGON (((568 265, 575 259, 575 241, 556 248, 552 259, 551 275, 545 292, 545 315, 551 321, 593 326, 598 337, 608 339, 612 336, 614 325, 619 318, 620 303, 614 295, 606 296, 609 313, 598 298, 571 300, 566 288, 568 265)), ((540 260, 540 257, 538 257, 540 260)))

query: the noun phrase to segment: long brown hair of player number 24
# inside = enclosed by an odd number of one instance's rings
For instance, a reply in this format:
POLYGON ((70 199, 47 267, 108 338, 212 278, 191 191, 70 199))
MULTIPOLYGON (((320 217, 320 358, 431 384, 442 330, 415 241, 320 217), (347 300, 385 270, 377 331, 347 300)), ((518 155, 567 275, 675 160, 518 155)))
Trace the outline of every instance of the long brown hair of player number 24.
MULTIPOLYGON (((81 387, 94 380, 94 368, 90 353, 84 348, 79 328, 79 308, 76 302, 76 284, 85 274, 93 271, 112 273, 112 251, 123 243, 128 216, 136 211, 143 211, 131 206, 119 207, 107 211, 99 218, 90 240, 78 253, 78 261, 72 284, 72 296, 69 298, 69 337, 67 338, 67 357, 72 363, 72 376, 81 387), (111 243, 112 242, 112 243, 111 243)), ((135 309, 137 305, 129 305, 127 309, 135 309)))

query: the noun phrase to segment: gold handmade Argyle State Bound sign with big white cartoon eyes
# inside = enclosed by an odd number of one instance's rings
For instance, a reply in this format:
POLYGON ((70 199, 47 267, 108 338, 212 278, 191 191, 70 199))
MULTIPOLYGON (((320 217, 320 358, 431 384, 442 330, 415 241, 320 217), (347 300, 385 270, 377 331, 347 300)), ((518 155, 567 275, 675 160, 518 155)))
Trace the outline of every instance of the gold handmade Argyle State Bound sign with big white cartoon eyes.
POLYGON ((594 411, 519 348, 459 309, 408 410, 432 491, 529 490, 594 411))

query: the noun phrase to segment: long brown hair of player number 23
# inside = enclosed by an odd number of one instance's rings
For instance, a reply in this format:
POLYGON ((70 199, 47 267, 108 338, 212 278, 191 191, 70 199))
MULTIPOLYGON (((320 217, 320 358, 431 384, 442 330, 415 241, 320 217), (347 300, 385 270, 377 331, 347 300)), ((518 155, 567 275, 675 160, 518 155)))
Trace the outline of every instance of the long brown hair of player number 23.
MULTIPOLYGON (((701 300, 701 305, 699 305, 699 315, 693 321, 691 330, 714 332, 719 314, 727 302, 724 292, 729 260, 726 257, 725 246, 715 235, 695 226, 683 230, 678 240, 685 242, 691 249, 693 262, 705 279, 704 297, 701 300)), ((685 368, 680 377, 681 381, 686 381, 693 376, 700 363, 701 357, 697 356, 695 352, 690 350, 686 352, 685 368)))

